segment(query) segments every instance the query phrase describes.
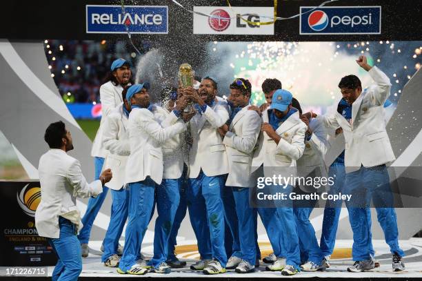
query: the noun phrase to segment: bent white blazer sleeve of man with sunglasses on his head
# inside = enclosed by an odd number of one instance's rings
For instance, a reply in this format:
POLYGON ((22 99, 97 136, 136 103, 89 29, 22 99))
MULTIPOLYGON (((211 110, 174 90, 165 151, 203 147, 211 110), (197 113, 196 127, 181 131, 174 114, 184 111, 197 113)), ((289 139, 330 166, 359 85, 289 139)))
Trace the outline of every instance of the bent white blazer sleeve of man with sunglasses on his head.
POLYGON ((255 111, 250 111, 250 113, 246 114, 249 116, 242 124, 242 136, 239 137, 228 131, 223 139, 223 144, 249 154, 252 153, 255 144, 257 144, 257 139, 261 130, 261 117, 259 117, 258 113, 255 111))

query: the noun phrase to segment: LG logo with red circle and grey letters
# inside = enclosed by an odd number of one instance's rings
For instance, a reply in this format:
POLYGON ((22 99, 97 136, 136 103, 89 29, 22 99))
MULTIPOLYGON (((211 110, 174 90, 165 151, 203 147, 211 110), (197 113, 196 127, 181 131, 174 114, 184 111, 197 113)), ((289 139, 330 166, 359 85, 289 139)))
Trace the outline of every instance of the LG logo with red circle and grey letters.
MULTIPOLYGON (((211 12, 214 17, 208 18, 210 28, 215 31, 224 31, 230 26, 230 14, 223 9, 217 9, 211 12)), ((258 14, 236 14, 236 28, 259 28, 260 18, 258 14), (243 21, 246 19, 248 22, 243 21)))

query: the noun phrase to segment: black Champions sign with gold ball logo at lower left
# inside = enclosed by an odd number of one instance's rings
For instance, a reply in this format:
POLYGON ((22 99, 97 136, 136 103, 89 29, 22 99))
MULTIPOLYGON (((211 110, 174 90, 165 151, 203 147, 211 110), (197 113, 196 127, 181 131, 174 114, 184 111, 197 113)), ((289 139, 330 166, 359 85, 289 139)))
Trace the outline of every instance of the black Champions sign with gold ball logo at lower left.
POLYGON ((35 228, 35 210, 41 201, 39 182, 0 181, 0 266, 40 267, 57 263, 47 238, 35 228))

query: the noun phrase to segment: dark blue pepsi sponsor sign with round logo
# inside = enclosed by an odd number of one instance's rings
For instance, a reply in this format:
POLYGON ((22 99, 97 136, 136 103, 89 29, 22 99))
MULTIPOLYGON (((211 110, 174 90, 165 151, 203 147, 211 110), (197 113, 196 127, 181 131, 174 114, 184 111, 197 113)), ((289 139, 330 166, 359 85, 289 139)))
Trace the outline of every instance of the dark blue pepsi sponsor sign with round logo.
POLYGON ((381 6, 301 7, 301 35, 381 34, 381 6))

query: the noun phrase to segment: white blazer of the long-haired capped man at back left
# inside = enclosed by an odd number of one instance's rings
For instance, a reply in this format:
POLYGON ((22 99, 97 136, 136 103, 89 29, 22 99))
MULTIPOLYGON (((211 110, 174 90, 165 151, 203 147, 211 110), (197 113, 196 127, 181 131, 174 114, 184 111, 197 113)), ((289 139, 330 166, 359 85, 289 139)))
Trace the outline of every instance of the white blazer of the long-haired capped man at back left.
POLYGON ((103 146, 103 124, 106 122, 106 117, 112 112, 116 106, 123 102, 121 97, 123 87, 121 85, 114 86, 112 81, 101 85, 100 87, 100 101, 101 101, 101 122, 95 135, 94 143, 92 144, 91 156, 106 158, 107 151, 103 146))

